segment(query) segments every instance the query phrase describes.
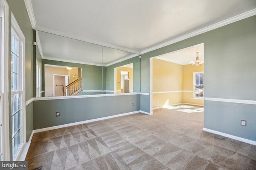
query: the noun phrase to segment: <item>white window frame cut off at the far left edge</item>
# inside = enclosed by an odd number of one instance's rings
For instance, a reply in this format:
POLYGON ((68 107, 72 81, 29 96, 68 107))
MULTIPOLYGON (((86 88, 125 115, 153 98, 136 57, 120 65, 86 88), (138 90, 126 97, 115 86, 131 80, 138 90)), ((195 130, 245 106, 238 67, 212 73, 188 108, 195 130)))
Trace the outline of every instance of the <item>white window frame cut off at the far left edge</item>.
POLYGON ((9 7, 6 0, 0 0, 0 16, 2 18, 0 64, 0 92, 2 100, 2 160, 10 160, 9 139, 9 7))

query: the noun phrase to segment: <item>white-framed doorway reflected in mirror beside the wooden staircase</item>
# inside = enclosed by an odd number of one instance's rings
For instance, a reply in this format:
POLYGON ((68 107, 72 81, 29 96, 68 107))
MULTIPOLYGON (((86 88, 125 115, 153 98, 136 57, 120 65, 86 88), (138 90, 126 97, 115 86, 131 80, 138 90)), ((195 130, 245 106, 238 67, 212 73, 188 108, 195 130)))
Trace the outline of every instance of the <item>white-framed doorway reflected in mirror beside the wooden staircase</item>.
POLYGON ((53 75, 53 96, 64 96, 63 87, 69 84, 68 75, 53 75))

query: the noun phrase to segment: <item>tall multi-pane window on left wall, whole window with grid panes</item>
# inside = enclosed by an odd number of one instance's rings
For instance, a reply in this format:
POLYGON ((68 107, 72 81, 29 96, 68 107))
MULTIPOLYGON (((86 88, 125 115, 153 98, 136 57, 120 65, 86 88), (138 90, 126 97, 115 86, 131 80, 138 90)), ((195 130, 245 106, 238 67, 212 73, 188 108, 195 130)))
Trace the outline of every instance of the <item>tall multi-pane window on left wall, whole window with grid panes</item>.
POLYGON ((12 15, 11 32, 11 102, 12 158, 16 160, 25 141, 24 35, 12 15))

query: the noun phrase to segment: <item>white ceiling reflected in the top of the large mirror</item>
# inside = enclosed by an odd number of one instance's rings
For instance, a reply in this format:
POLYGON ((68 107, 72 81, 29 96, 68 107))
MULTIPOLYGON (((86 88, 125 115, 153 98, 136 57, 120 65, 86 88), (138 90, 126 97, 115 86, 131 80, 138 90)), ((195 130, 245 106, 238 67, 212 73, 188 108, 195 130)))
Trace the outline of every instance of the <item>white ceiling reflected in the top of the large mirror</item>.
POLYGON ((126 51, 42 31, 37 31, 36 36, 44 59, 106 66, 136 56, 126 51))

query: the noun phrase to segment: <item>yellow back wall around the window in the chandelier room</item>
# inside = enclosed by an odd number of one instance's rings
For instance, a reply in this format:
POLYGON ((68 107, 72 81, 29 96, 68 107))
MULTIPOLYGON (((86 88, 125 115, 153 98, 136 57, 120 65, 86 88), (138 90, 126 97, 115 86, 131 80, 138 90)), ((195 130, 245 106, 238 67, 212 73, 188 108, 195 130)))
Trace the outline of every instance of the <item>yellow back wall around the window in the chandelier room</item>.
POLYGON ((204 64, 201 66, 183 65, 183 103, 204 105, 204 100, 193 99, 193 72, 204 71, 204 64))

